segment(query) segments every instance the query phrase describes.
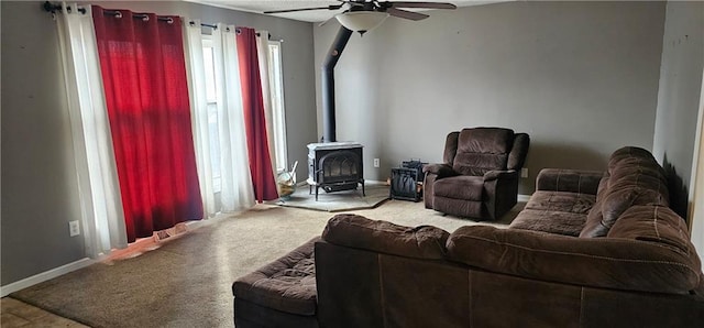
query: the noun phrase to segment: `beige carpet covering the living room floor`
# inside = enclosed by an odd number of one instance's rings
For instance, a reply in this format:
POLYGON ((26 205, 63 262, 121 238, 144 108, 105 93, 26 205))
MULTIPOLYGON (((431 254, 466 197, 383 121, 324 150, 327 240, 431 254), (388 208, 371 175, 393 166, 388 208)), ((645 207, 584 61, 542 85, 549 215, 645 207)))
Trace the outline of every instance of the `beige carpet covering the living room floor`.
MULTIPOLYGON (((505 227, 522 205, 492 225, 505 227)), ((404 200, 355 212, 448 231, 476 223, 404 200)), ((92 327, 232 327, 232 282, 320 234, 331 216, 258 205, 140 256, 94 264, 10 296, 92 327)))

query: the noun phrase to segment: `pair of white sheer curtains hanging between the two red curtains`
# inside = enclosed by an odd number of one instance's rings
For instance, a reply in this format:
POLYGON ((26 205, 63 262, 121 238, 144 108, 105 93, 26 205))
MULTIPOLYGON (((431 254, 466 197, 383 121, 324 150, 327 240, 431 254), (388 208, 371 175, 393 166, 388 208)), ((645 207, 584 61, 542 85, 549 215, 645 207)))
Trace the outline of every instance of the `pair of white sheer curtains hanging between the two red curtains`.
POLYGON ((255 201, 246 152, 235 28, 218 24, 217 29, 212 29, 211 34, 217 90, 217 128, 208 121, 205 89, 207 61, 202 53, 200 22, 186 20, 184 29, 196 156, 205 208, 208 216, 213 216, 218 211, 228 212, 250 208, 255 201), (217 129, 215 131, 217 133, 211 133, 212 129, 217 129), (212 168, 216 164, 210 160, 212 152, 217 152, 220 158, 217 163, 220 167, 220 192, 213 188, 212 183, 212 168))

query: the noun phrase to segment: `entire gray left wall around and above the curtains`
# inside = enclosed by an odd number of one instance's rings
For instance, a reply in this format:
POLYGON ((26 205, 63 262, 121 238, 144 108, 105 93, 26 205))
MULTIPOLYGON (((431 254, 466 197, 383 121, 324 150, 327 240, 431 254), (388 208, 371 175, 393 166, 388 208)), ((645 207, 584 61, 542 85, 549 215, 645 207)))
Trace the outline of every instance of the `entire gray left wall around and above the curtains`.
MULTIPOLYGON (((1 2, 2 285, 85 256, 82 238, 68 237, 67 222, 79 216, 77 183, 57 34, 42 2, 1 2)), ((306 144, 317 139, 310 23, 176 1, 100 6, 252 26, 283 39, 289 162, 306 163, 306 144)))

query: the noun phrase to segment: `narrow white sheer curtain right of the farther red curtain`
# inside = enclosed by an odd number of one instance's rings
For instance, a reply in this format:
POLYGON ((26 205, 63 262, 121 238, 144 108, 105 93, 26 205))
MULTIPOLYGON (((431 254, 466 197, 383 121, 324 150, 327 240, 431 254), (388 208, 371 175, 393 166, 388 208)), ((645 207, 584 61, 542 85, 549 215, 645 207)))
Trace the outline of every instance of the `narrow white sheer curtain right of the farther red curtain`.
MULTIPOLYGON (((262 79, 262 98, 264 99, 264 120, 266 121, 266 141, 268 143, 268 153, 272 158, 272 170, 276 176, 276 143, 274 132, 274 112, 272 103, 274 101, 272 87, 270 86, 270 67, 268 67, 268 31, 256 31, 256 57, 260 63, 260 77, 262 79)), ((286 167, 285 167, 286 168, 286 167)))

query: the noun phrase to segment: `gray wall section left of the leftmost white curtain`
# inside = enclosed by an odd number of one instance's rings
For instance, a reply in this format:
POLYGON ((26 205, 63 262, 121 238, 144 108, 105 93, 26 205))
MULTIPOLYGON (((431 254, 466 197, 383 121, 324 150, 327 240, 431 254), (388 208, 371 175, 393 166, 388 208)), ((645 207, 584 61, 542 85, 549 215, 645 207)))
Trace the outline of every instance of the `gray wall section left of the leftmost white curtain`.
POLYGON ((84 258, 55 24, 38 2, 2 8, 2 285, 84 258))

